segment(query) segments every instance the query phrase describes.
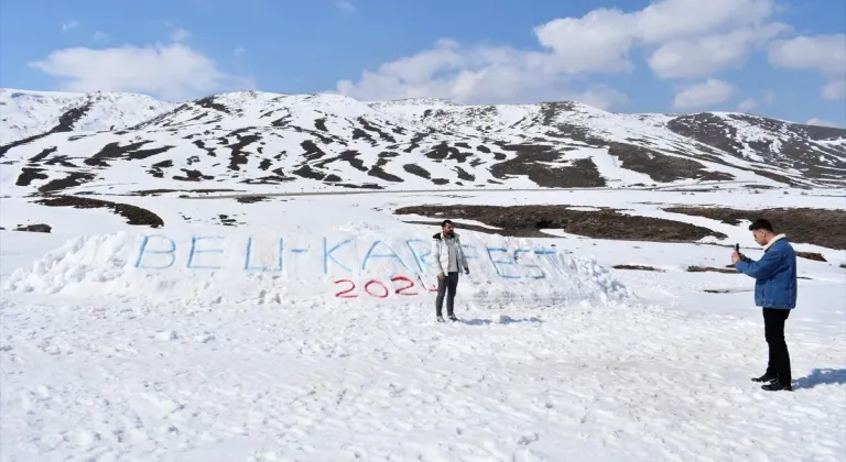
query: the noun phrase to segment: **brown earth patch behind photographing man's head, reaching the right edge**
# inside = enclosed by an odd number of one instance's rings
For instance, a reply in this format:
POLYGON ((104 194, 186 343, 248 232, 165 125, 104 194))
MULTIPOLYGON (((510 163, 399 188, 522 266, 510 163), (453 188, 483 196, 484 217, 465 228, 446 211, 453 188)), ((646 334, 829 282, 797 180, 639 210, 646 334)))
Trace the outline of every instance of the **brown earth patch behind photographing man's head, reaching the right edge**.
POLYGON ((705 217, 728 224, 759 218, 770 220, 777 233, 785 233, 791 242, 846 250, 846 210, 811 208, 773 208, 738 210, 722 207, 669 207, 665 211, 705 217))

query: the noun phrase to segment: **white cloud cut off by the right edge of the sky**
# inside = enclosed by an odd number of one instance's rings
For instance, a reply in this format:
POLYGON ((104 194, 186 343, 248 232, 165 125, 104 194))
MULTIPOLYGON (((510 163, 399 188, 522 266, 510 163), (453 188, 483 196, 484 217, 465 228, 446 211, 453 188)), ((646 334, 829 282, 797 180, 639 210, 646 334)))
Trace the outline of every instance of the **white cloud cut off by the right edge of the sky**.
POLYGON ((770 46, 769 58, 778 67, 820 70, 828 80, 823 98, 846 99, 846 34, 778 41, 770 46))

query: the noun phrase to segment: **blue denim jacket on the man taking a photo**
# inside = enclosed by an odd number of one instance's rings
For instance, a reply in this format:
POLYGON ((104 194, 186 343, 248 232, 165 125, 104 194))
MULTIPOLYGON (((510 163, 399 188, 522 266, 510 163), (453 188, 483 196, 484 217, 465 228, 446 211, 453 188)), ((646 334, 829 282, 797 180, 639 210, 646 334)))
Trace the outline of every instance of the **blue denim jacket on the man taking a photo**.
POLYGON ((738 272, 755 277, 755 305, 764 308, 796 307, 796 253, 788 239, 772 241, 759 261, 744 257, 738 272))

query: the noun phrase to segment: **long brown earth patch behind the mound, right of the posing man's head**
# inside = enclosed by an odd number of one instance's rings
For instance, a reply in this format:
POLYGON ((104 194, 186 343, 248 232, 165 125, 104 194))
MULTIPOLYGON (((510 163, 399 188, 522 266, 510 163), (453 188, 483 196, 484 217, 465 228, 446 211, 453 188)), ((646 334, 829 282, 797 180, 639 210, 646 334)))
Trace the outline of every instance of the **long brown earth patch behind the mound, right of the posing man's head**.
POLYGON ((413 206, 399 208, 394 213, 419 215, 433 220, 474 220, 500 229, 462 228, 520 238, 552 238, 542 229, 622 241, 692 242, 709 235, 726 238, 723 233, 682 221, 630 216, 614 209, 572 210, 568 207, 572 206, 413 206))

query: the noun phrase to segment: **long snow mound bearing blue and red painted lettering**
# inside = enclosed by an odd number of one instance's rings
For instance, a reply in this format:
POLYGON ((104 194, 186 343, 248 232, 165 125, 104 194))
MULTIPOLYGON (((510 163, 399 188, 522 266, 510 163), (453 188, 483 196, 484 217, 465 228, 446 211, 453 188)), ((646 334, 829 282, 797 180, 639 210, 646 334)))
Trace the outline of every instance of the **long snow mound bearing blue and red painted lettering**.
MULTIPOLYGON (((431 302, 431 231, 347 226, 325 233, 120 232, 72 239, 4 282, 12 293, 202 304, 431 302)), ((462 234, 470 274, 463 300, 542 305, 612 304, 633 294, 594 258, 549 241, 462 234)))

